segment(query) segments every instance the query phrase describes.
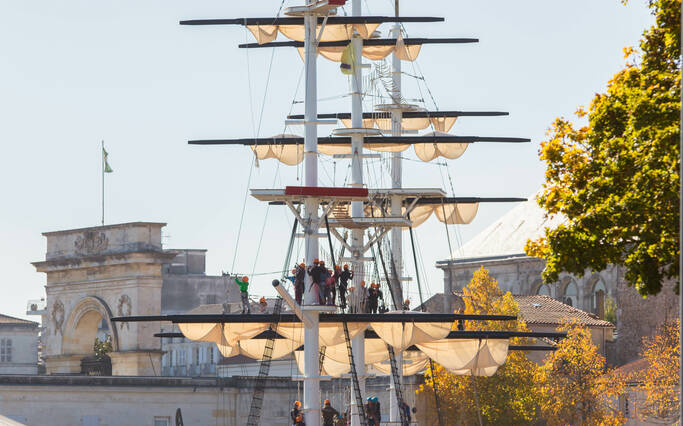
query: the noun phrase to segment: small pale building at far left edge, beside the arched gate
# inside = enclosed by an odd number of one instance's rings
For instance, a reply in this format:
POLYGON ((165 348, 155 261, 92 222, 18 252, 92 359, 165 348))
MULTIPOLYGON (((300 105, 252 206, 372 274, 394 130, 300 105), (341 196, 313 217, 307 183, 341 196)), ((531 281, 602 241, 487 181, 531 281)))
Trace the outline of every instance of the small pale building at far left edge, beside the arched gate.
POLYGON ((38 373, 39 324, 0 314, 0 374, 38 373))

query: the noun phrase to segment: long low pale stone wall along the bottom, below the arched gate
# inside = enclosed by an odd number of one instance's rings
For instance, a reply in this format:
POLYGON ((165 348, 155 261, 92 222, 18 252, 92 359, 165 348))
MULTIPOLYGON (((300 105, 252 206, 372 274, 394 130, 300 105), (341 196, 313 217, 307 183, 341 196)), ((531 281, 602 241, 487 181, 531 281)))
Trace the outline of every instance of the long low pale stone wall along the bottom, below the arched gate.
MULTIPOLYGON (((155 419, 175 424, 180 408, 186 425, 241 426, 249 415, 254 382, 253 377, 0 376, 0 414, 29 426, 154 426, 155 419)), ((414 406, 414 380, 407 382, 406 399, 414 406)), ((300 383, 291 377, 268 379, 260 425, 291 424, 289 410, 303 398, 300 383)), ((343 412, 348 384, 346 379, 323 381, 322 399, 343 412)), ((368 379, 366 388, 364 397, 377 396, 388 418, 388 377, 368 379)))

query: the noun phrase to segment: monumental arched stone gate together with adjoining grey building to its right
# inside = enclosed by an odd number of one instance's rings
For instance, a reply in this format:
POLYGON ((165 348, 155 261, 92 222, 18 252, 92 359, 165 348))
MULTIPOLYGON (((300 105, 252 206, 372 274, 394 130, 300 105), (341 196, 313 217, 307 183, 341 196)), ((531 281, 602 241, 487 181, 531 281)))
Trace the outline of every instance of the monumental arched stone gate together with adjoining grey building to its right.
POLYGON ((80 373, 81 360, 94 353, 95 337, 110 335, 114 374, 215 375, 220 359, 215 345, 154 337, 177 331, 170 324, 114 326, 109 321, 112 316, 177 314, 202 304, 239 301, 233 280, 206 275, 206 250, 164 249, 163 226, 134 222, 43 234, 45 260, 34 265, 47 274, 46 298, 30 303, 27 313, 43 318, 41 346, 48 374, 80 373))

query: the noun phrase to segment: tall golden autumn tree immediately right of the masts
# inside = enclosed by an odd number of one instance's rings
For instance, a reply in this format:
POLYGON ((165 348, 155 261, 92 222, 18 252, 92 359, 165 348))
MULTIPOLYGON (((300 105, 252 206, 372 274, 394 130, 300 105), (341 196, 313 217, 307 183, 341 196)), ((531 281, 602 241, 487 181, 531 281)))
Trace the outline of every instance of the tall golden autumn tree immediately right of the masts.
MULTIPOLYGON (((517 315, 519 307, 512 295, 503 293, 498 282, 484 268, 475 272, 464 289, 466 314, 517 315)), ((519 330, 528 331, 523 320, 517 321, 466 321, 466 330, 519 330)), ((436 424, 434 388, 439 395, 445 424, 473 425, 482 422, 490 425, 524 425, 536 420, 538 401, 534 384, 537 365, 521 351, 513 351, 492 377, 459 376, 437 365, 436 380, 429 370, 425 384, 418 393, 429 405, 421 415, 430 416, 421 424, 436 424), (481 411, 479 411, 481 410, 481 411)))

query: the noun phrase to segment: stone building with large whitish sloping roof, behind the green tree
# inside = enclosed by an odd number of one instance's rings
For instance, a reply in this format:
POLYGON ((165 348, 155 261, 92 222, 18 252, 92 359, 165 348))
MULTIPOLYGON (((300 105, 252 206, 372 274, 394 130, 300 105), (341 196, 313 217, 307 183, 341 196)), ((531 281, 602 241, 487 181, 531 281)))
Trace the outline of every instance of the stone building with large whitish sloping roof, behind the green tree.
MULTIPOLYGON (((673 283, 665 283, 659 295, 643 299, 624 279, 623 268, 610 265, 603 271, 587 270, 581 277, 562 273, 557 282, 543 284, 545 261, 527 256, 524 246, 564 219, 558 215, 546 217, 537 204, 537 196, 538 193, 529 197, 529 201, 520 203, 476 235, 451 259, 437 262, 437 268, 444 272, 444 294, 462 291, 474 272, 484 267, 503 291, 513 294, 547 295, 599 318, 605 317, 606 307, 614 306, 616 339, 607 350, 608 360, 621 365, 637 359, 642 338, 651 335, 662 321, 679 316, 673 283)), ((446 298, 443 303, 443 309, 451 311, 455 297, 446 298)))

